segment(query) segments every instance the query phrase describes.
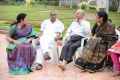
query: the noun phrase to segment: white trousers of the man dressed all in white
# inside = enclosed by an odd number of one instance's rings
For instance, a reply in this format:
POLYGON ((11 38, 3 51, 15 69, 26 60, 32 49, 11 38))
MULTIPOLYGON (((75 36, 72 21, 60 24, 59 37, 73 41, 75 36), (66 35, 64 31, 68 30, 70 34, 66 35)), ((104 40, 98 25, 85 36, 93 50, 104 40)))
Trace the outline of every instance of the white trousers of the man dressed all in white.
MULTIPOLYGON (((53 53, 51 49, 57 49, 57 44, 54 41, 54 38, 50 37, 50 36, 42 36, 40 38, 40 47, 39 49, 37 49, 37 55, 36 55, 36 63, 38 64, 43 64, 44 63, 44 55, 46 54, 46 52, 53 53), (52 52, 51 52, 52 51, 52 52)), ((54 54, 56 54, 56 52, 58 52, 57 50, 54 52, 54 54)), ((50 57, 52 58, 52 60, 54 59, 53 56, 54 54, 50 54, 50 57)))

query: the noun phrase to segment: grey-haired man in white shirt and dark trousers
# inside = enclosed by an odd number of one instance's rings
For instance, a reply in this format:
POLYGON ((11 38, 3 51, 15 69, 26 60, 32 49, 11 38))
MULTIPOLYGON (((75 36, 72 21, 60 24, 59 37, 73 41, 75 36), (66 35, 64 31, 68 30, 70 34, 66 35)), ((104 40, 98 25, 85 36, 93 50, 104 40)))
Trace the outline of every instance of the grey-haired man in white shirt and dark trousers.
POLYGON ((72 62, 72 56, 78 47, 81 46, 81 39, 91 35, 90 23, 84 19, 84 11, 77 10, 76 20, 70 25, 66 32, 66 39, 70 38, 62 48, 58 67, 65 70, 65 65, 72 62), (72 37, 73 36, 73 37, 72 37), (76 37, 74 37, 76 36, 76 37))

